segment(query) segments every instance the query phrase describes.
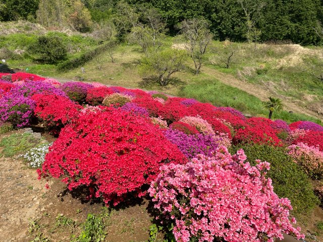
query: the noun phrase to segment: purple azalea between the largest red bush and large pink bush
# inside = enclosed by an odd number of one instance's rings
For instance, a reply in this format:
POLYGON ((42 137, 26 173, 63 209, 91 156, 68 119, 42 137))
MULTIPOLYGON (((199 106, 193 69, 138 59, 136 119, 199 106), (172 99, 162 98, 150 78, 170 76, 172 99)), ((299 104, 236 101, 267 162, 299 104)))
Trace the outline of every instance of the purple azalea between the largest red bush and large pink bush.
POLYGON ((211 155, 218 148, 219 138, 213 135, 187 135, 173 129, 164 130, 164 135, 189 159, 197 157, 198 154, 211 155))

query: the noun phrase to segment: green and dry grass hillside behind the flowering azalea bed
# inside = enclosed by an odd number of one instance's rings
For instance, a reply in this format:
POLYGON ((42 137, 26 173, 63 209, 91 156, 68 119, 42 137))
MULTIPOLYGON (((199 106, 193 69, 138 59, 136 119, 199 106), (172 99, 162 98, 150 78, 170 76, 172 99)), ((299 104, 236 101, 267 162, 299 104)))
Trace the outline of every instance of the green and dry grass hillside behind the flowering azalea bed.
MULTIPOLYGON (((67 37, 65 34, 60 34, 60 36, 72 46, 80 45, 83 47, 93 47, 92 44, 94 44, 92 40, 88 39, 89 37, 85 38, 78 35, 67 37)), ((17 36, 8 37, 7 41, 10 41, 11 38, 15 39, 14 43, 18 41, 16 40, 17 36)), ((28 41, 24 40, 22 42, 28 41)), ((166 38, 164 40, 163 48, 169 48, 174 42, 176 43, 176 41, 176 38, 166 38)), ((323 102, 323 85, 320 86, 315 84, 313 77, 308 73, 299 71, 300 67, 298 65, 292 66, 292 61, 287 61, 284 62, 285 66, 278 68, 282 59, 288 59, 289 56, 295 55, 295 49, 301 51, 300 58, 302 60, 303 57, 315 58, 317 54, 323 54, 322 48, 305 49, 300 46, 295 47, 292 45, 280 46, 260 44, 254 48, 254 45, 248 45, 246 43, 231 44, 237 52, 235 53, 236 57, 234 58, 234 63, 229 69, 221 67, 219 64, 219 56, 211 52, 207 54, 204 65, 208 68, 231 74, 236 78, 242 78, 255 85, 260 85, 264 90, 269 90, 270 93, 273 93, 271 95, 274 97, 281 98, 282 96, 286 96, 290 98, 290 100, 295 100, 300 106, 308 107, 312 104, 320 106, 320 102, 323 102), (244 69, 249 70, 250 75, 247 75, 248 73, 244 69)), ((228 50, 227 47, 224 47, 225 45, 226 42, 212 42, 212 48, 223 55, 225 55, 225 52, 228 50)), ((73 48, 74 47, 72 47, 72 49, 73 48)), ((71 53, 69 58, 75 57, 81 52, 71 53)), ((82 73, 80 68, 76 68, 66 73, 60 73, 54 65, 39 65, 33 63, 30 59, 8 61, 8 65, 10 68, 21 70, 29 68, 30 73, 47 77, 71 80, 82 78, 84 81, 88 82, 97 81, 108 85, 138 88, 139 82, 142 80, 141 76, 138 74, 138 60, 143 56, 140 47, 137 45, 128 45, 126 43, 120 44, 117 46, 115 56, 116 63, 112 63, 107 52, 102 52, 100 55, 102 62, 101 69, 98 69, 97 60, 92 59, 92 61, 83 65, 85 73, 82 73)), ((203 72, 203 67, 202 73, 199 76, 195 76, 189 71, 175 74, 174 76, 183 81, 184 85, 170 85, 166 88, 150 86, 145 87, 145 89, 159 90, 172 95, 195 98, 202 102, 211 102, 217 106, 232 106, 244 113, 250 113, 251 115, 267 116, 267 111, 262 109, 260 99, 238 88, 226 85, 220 80, 214 79, 211 74, 203 72)), ((273 118, 282 118, 287 122, 311 120, 316 123, 321 123, 320 120, 315 117, 289 113, 287 111, 282 111, 280 113, 274 112, 273 118)))

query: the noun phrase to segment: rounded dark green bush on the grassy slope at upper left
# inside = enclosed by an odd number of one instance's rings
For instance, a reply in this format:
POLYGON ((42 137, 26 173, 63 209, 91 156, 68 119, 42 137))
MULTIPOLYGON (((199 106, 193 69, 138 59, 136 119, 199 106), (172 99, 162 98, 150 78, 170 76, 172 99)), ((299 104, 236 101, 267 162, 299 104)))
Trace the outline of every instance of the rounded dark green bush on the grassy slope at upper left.
POLYGON ((37 62, 55 64, 66 58, 67 47, 58 36, 40 36, 28 47, 28 52, 35 55, 37 62))

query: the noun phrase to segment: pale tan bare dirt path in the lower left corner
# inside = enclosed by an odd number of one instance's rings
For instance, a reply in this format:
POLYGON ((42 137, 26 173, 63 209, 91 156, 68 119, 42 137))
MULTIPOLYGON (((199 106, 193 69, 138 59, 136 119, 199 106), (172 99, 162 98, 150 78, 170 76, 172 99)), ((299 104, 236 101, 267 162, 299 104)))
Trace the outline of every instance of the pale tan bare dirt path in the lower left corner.
POLYGON ((45 210, 46 181, 21 160, 0 158, 0 241, 29 241, 29 219, 45 210))

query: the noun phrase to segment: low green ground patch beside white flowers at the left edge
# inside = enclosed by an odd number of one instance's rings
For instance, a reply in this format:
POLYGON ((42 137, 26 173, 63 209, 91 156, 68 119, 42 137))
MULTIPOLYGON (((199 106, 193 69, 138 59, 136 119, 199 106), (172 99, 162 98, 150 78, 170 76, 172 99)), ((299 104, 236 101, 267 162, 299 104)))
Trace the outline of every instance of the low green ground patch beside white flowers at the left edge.
POLYGON ((31 134, 13 134, 0 141, 0 147, 3 147, 2 155, 13 157, 17 154, 26 153, 39 142, 31 134))

